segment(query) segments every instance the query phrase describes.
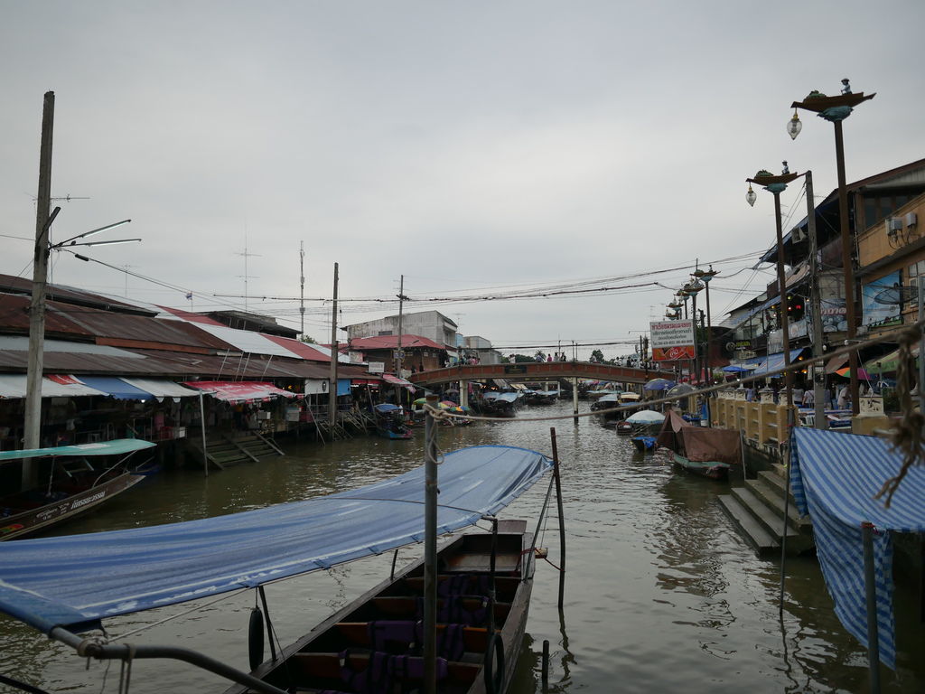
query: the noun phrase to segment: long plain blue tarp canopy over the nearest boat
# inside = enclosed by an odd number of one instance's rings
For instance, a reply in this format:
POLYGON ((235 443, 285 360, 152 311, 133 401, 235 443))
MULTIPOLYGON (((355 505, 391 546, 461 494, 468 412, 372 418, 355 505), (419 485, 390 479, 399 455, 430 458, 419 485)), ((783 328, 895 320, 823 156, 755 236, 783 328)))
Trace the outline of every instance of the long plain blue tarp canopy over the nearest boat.
MULTIPOLYGON (((495 514, 552 467, 475 446, 439 466, 438 533, 495 514)), ((424 539, 424 467, 302 502, 164 526, 0 543, 0 611, 48 633, 253 588, 424 539)))

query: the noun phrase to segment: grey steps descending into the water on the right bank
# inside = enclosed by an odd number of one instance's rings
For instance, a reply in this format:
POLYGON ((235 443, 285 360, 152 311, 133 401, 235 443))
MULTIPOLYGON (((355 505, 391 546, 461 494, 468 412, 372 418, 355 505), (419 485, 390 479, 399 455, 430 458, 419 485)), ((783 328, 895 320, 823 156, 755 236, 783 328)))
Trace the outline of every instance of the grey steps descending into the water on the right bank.
POLYGON ((732 493, 719 498, 722 510, 762 556, 781 553, 784 533, 787 554, 806 554, 815 547, 812 521, 800 517, 792 494, 784 523, 786 474, 784 465, 773 465, 755 479, 746 479, 744 487, 733 487, 732 493))

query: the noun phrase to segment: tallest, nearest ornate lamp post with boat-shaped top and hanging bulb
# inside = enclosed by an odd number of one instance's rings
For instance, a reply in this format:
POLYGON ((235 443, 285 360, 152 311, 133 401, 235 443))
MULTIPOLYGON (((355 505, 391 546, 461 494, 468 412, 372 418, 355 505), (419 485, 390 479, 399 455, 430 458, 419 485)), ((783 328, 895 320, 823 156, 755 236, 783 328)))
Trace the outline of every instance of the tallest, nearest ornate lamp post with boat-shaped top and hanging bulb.
MULTIPOLYGON (((825 118, 835 127, 835 164, 838 169, 838 217, 841 227, 842 238, 842 266, 845 273, 845 318, 847 320, 847 340, 852 343, 857 334, 855 319, 855 279, 854 270, 851 265, 851 230, 848 229, 848 192, 845 183, 845 143, 842 136, 842 121, 851 115, 854 107, 869 101, 873 94, 863 92, 852 93, 851 85, 847 80, 842 80, 842 93, 838 96, 826 96, 823 93, 813 91, 808 93, 803 101, 795 101, 791 104, 794 109, 794 115, 787 123, 787 134, 792 140, 803 130, 803 124, 797 115, 796 109, 803 108, 812 111, 820 118, 825 118)), ((857 397, 857 350, 848 353, 848 366, 850 367, 850 392, 851 392, 851 413, 857 415, 860 412, 860 401, 857 397)))

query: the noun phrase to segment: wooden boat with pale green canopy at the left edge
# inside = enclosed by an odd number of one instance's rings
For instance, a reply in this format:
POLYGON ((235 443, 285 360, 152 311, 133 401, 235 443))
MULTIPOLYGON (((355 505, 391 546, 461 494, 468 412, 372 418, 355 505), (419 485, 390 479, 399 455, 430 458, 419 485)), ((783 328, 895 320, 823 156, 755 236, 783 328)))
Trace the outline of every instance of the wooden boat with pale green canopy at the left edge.
POLYGON ((125 439, 0 452, 0 463, 29 460, 37 465, 41 480, 34 489, 0 498, 0 540, 23 538, 65 523, 131 489, 144 475, 129 471, 129 455, 152 447, 150 441, 125 439), (112 461, 123 453, 128 454, 112 461))

